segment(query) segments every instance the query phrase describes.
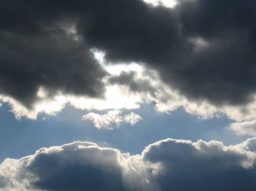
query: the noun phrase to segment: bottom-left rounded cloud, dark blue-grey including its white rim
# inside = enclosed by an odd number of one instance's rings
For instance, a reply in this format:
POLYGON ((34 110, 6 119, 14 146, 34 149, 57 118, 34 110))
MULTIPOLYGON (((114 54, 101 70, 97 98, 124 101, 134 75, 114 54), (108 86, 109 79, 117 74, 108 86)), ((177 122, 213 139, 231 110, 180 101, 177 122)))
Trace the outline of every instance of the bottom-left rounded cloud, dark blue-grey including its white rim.
MULTIPOLYGON (((7 159, 1 164, 1 173, 13 181, 14 190, 124 190, 122 168, 118 163, 122 159, 118 157, 122 157, 118 150, 99 148, 94 143, 74 142, 42 148, 35 155, 20 160, 7 159), (6 171, 9 165, 13 165, 9 162, 21 165, 12 169, 14 174, 6 171), (19 170, 22 171, 20 174, 19 170), (22 179, 29 179, 29 184, 24 185, 26 180, 22 179)), ((12 186, 6 189, 12 189, 12 186)))

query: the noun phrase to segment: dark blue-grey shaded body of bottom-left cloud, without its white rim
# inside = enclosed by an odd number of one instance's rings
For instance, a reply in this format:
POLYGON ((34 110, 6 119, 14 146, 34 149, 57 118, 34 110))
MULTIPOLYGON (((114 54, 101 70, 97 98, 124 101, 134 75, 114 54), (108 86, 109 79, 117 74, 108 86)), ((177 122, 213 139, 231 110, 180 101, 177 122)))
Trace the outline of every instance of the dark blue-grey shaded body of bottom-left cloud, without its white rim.
MULTIPOLYGON (((64 151, 65 152, 65 151, 64 151)), ((63 153, 63 152, 62 152, 63 153)), ((29 170, 39 177, 33 188, 49 191, 124 190, 122 171, 115 152, 90 149, 63 155, 38 155, 29 170), (73 155, 73 162, 65 158, 73 155), (91 155, 91 156, 84 156, 91 155), (90 158, 99 157, 100 159, 90 158)))

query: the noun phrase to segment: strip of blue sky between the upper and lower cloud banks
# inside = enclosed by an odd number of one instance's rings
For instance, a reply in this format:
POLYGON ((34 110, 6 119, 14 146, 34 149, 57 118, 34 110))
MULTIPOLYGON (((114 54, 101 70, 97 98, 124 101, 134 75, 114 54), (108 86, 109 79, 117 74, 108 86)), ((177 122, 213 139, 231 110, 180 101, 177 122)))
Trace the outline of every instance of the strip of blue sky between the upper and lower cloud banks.
POLYGON ((7 112, 10 110, 8 104, 3 103, 0 108, 0 161, 7 157, 18 159, 42 147, 73 141, 89 141, 101 147, 139 154, 148 144, 169 137, 192 141, 218 140, 224 145, 237 144, 247 138, 237 137, 232 131, 224 129, 232 122, 228 118, 199 120, 183 108, 166 114, 156 112, 154 107, 155 104, 151 103, 142 104, 140 109, 122 110, 123 115, 138 113, 143 121, 134 126, 124 123, 118 129, 104 130, 81 118, 88 112, 104 114, 109 110, 85 111, 66 105, 57 116, 40 113, 37 120, 23 118, 18 121, 11 112, 7 112))

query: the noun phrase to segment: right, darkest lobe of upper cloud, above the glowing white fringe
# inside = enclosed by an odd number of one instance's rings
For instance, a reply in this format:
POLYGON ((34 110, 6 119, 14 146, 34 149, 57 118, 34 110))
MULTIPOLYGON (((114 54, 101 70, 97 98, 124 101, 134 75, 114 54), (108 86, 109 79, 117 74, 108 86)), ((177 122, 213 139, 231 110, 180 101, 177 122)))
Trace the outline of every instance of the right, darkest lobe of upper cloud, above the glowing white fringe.
POLYGON ((179 1, 174 9, 116 2, 83 31, 111 61, 139 61, 191 99, 250 101, 255 92, 255 1, 179 1), (111 11, 109 11, 111 10, 111 11), (207 47, 194 51, 189 38, 207 47))

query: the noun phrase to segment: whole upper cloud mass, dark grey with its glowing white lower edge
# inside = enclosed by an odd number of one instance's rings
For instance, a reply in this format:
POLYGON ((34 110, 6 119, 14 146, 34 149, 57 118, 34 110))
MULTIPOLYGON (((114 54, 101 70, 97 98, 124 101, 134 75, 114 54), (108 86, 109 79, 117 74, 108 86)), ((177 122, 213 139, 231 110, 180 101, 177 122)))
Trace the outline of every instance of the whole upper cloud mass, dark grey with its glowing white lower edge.
POLYGON ((155 102, 255 120, 255 1, 168 2, 5 1, 0 100, 17 119, 155 102))

